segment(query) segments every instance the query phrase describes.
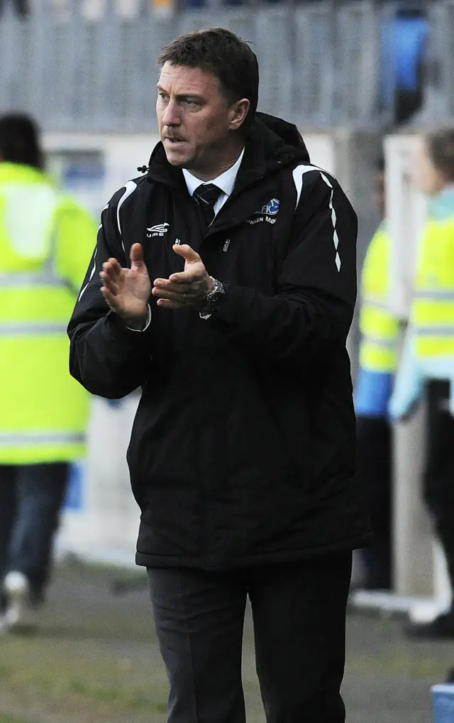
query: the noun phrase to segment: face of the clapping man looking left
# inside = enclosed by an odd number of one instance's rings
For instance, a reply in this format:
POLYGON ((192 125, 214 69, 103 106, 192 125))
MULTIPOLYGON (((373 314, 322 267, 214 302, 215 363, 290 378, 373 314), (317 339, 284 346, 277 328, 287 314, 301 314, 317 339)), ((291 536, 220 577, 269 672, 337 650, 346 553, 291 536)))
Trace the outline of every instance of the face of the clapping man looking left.
POLYGON ((156 114, 167 161, 211 180, 235 161, 237 133, 248 114, 243 98, 230 105, 217 77, 200 68, 162 66, 156 114), (223 168, 225 166, 225 168, 223 168))

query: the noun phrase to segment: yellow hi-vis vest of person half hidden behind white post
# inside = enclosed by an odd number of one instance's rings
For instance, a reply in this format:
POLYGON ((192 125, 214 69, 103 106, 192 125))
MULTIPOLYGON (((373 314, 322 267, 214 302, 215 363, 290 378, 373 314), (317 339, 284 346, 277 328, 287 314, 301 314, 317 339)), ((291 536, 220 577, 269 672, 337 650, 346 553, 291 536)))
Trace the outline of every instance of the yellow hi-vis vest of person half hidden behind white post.
POLYGON ((399 322, 389 311, 390 239, 382 224, 367 249, 362 269, 359 365, 370 372, 392 373, 397 366, 399 322))

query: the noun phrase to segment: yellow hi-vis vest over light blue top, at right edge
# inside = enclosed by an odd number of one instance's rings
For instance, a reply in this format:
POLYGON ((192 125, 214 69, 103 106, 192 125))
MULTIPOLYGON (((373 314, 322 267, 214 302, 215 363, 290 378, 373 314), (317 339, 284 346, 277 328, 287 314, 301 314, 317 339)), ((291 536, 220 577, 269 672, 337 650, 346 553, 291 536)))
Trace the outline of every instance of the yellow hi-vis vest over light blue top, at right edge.
POLYGON ((419 247, 411 326, 416 356, 454 365, 454 188, 432 202, 419 247))

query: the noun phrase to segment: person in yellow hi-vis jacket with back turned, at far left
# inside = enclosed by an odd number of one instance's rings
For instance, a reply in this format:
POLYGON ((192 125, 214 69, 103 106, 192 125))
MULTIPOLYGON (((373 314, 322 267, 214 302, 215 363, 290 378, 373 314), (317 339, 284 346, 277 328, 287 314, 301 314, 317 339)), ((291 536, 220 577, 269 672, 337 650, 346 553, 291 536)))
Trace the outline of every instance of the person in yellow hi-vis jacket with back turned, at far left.
POLYGON ((66 325, 96 237, 43 170, 38 128, 0 117, 1 627, 32 625, 51 568, 69 466, 84 455, 87 393, 66 325))

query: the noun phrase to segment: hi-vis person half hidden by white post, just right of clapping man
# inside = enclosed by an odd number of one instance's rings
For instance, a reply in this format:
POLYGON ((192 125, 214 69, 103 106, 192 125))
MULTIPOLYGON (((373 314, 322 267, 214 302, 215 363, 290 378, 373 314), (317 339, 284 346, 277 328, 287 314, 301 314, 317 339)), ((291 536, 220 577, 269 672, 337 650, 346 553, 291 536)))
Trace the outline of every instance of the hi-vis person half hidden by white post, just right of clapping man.
POLYGON ((367 492, 374 542, 360 551, 361 587, 392 586, 392 437, 388 404, 397 366, 399 322, 390 312, 390 237, 385 223, 385 161, 375 168, 382 222, 370 241, 361 277, 359 371, 355 389, 359 474, 367 492))

